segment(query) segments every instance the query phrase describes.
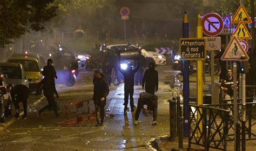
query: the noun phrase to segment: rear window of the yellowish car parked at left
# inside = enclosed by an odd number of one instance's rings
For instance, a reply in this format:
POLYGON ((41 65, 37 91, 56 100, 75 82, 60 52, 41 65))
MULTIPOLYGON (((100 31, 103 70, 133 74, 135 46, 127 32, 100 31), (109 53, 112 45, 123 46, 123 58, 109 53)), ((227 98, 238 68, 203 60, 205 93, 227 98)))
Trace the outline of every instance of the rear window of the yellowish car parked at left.
POLYGON ((33 60, 10 60, 10 63, 21 63, 25 71, 40 72, 37 61, 33 60))

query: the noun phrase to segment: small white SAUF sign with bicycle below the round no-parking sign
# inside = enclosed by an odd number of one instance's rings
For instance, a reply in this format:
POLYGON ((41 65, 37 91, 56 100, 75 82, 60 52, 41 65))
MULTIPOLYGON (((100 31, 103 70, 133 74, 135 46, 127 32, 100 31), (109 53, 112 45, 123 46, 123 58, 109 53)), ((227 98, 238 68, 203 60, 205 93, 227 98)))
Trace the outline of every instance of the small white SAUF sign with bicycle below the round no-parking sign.
POLYGON ((220 50, 221 38, 220 37, 204 37, 206 39, 206 50, 220 50))

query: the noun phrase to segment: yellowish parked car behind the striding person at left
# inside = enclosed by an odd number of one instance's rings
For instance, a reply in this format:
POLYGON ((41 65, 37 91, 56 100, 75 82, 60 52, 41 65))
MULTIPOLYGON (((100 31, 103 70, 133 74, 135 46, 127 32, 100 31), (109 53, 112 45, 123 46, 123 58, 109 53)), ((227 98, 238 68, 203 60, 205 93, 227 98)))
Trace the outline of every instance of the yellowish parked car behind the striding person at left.
POLYGON ((43 66, 39 63, 38 58, 29 54, 14 54, 8 59, 8 63, 21 63, 25 70, 25 75, 29 81, 30 92, 37 90, 38 83, 43 79, 43 66))

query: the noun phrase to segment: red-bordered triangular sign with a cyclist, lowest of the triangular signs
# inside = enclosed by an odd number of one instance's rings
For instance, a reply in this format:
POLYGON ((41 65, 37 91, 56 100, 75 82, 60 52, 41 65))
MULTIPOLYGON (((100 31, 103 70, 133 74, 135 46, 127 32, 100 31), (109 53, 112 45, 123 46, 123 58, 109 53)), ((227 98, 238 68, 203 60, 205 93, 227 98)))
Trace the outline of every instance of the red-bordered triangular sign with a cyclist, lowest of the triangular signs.
POLYGON ((245 60, 249 60, 249 57, 240 45, 238 38, 233 36, 230 43, 228 43, 225 52, 221 56, 221 60, 240 60, 242 55, 245 55, 245 60))

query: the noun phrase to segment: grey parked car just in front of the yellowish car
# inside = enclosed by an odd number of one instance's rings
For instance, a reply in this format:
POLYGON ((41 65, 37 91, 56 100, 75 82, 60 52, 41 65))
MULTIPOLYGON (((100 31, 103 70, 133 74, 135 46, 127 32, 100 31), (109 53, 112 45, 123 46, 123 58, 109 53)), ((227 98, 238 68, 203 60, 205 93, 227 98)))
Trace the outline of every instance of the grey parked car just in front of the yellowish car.
POLYGON ((29 81, 26 78, 25 70, 19 63, 0 63, 0 74, 6 74, 8 81, 14 85, 25 85, 29 88, 29 81))

